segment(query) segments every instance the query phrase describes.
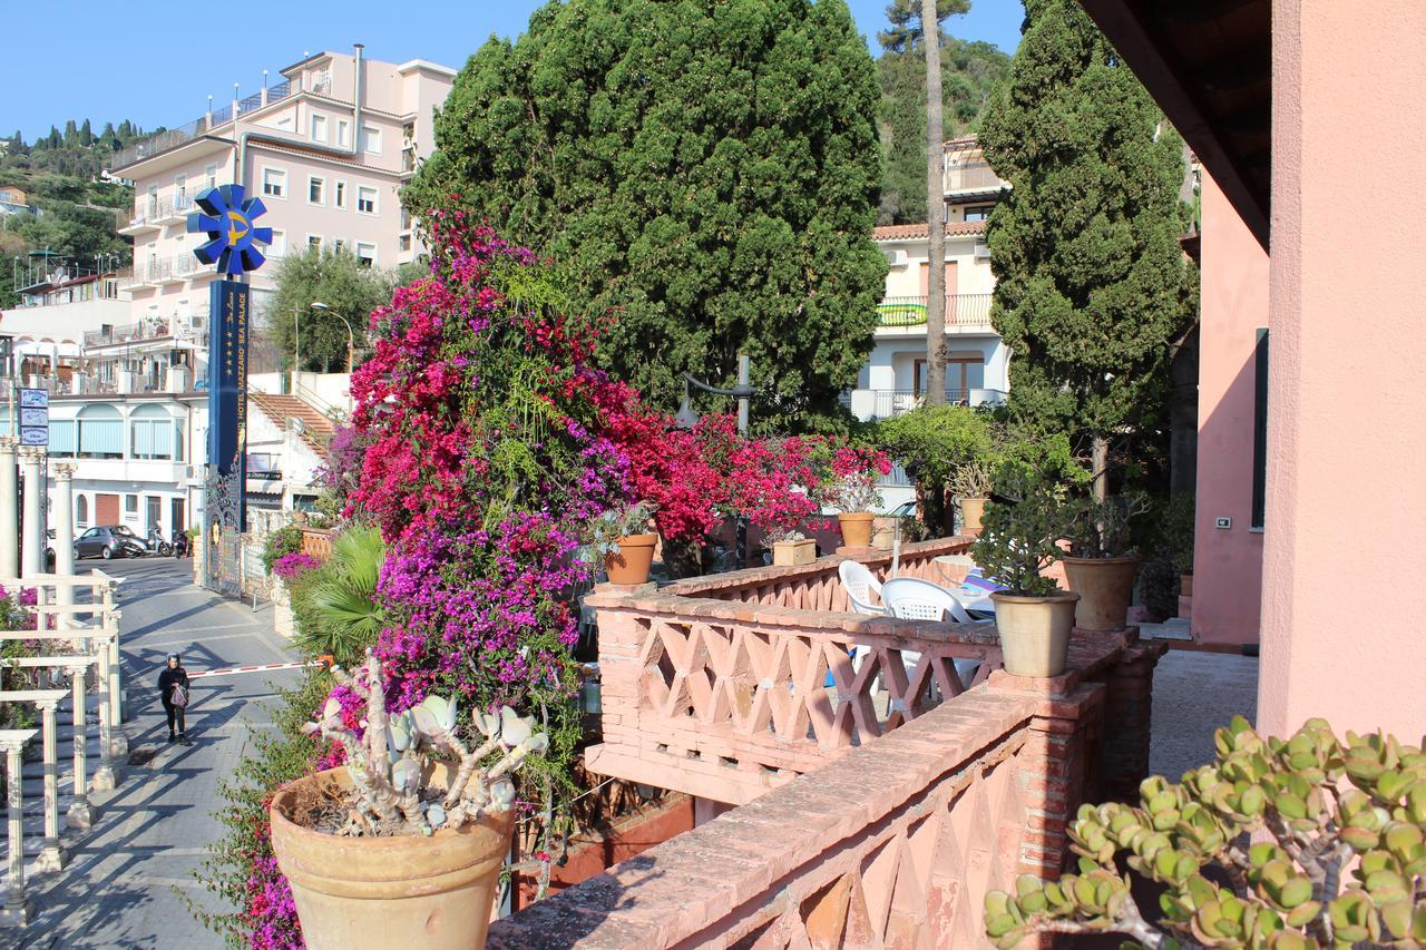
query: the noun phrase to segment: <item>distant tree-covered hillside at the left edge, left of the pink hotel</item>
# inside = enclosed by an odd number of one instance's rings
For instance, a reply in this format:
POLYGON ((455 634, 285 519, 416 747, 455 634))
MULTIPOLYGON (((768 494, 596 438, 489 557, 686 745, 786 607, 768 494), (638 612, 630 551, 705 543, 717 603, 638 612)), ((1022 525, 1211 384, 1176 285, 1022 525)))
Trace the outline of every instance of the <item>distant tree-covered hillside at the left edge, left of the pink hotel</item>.
POLYGON ((27 204, 41 214, 9 214, 0 218, 0 307, 13 307, 13 258, 48 250, 94 267, 103 255, 117 255, 127 267, 133 242, 117 233, 118 217, 134 203, 134 190, 106 181, 103 170, 116 151, 145 133, 130 121, 107 123, 94 133, 90 120, 70 120, 64 130, 50 127, 33 143, 17 131, 0 138, 0 185, 26 193, 27 204))

